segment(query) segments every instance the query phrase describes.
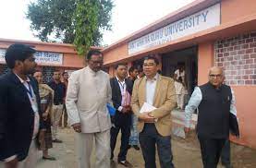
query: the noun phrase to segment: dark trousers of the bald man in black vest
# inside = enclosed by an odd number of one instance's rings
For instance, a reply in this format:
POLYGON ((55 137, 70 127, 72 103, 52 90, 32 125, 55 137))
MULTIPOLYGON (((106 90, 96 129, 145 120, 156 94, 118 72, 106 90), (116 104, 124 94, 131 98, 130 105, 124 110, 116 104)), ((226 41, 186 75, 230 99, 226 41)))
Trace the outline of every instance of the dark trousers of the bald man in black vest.
POLYGON ((203 168, 216 168, 226 139, 199 137, 199 141, 203 168))

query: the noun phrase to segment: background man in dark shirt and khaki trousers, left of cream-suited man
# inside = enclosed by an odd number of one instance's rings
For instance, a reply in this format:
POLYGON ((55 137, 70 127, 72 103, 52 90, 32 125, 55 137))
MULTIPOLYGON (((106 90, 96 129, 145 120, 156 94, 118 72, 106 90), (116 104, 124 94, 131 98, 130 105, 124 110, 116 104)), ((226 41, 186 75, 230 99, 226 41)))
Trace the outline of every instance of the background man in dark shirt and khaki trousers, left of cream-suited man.
POLYGON ((48 86, 55 91, 54 97, 54 110, 52 114, 53 120, 53 142, 55 143, 62 143, 62 140, 57 138, 57 129, 59 126, 59 121, 63 111, 63 104, 65 101, 66 95, 66 86, 60 80, 60 71, 55 70, 53 80, 48 83, 48 86))

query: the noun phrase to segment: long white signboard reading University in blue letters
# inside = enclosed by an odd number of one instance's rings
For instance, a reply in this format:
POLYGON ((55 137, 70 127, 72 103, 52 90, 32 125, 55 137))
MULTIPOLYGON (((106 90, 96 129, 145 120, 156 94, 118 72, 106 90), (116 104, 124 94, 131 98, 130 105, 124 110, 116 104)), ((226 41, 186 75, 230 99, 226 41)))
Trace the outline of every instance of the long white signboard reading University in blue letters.
POLYGON ((153 46, 220 25, 220 4, 210 6, 189 17, 182 18, 159 30, 154 30, 134 41, 128 42, 128 54, 135 54, 153 46))

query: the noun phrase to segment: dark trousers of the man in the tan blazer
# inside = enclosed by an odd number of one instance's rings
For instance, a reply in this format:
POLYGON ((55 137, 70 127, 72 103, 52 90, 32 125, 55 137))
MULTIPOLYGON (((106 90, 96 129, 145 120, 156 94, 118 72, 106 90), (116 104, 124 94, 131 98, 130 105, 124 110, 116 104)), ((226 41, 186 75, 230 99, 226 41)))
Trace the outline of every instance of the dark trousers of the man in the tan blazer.
POLYGON ((155 144, 157 145, 161 168, 174 168, 170 136, 163 137, 158 134, 154 124, 145 124, 139 139, 145 168, 156 168, 155 144))

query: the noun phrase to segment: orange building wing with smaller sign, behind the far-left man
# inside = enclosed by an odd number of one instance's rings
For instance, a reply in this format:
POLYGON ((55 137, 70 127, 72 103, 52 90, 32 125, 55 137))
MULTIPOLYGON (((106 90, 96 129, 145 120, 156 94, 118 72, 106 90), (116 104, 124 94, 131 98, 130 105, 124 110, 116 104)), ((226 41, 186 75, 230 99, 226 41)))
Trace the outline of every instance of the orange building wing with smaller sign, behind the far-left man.
MULTIPOLYGON (((43 72, 44 82, 52 79, 55 70, 71 73, 85 65, 84 56, 79 56, 71 44, 0 39, 0 74, 8 71, 5 61, 6 48, 15 42, 28 44, 37 50, 35 54, 38 63, 37 70, 43 72)), ((91 49, 100 50, 101 48, 91 47, 91 49)))

